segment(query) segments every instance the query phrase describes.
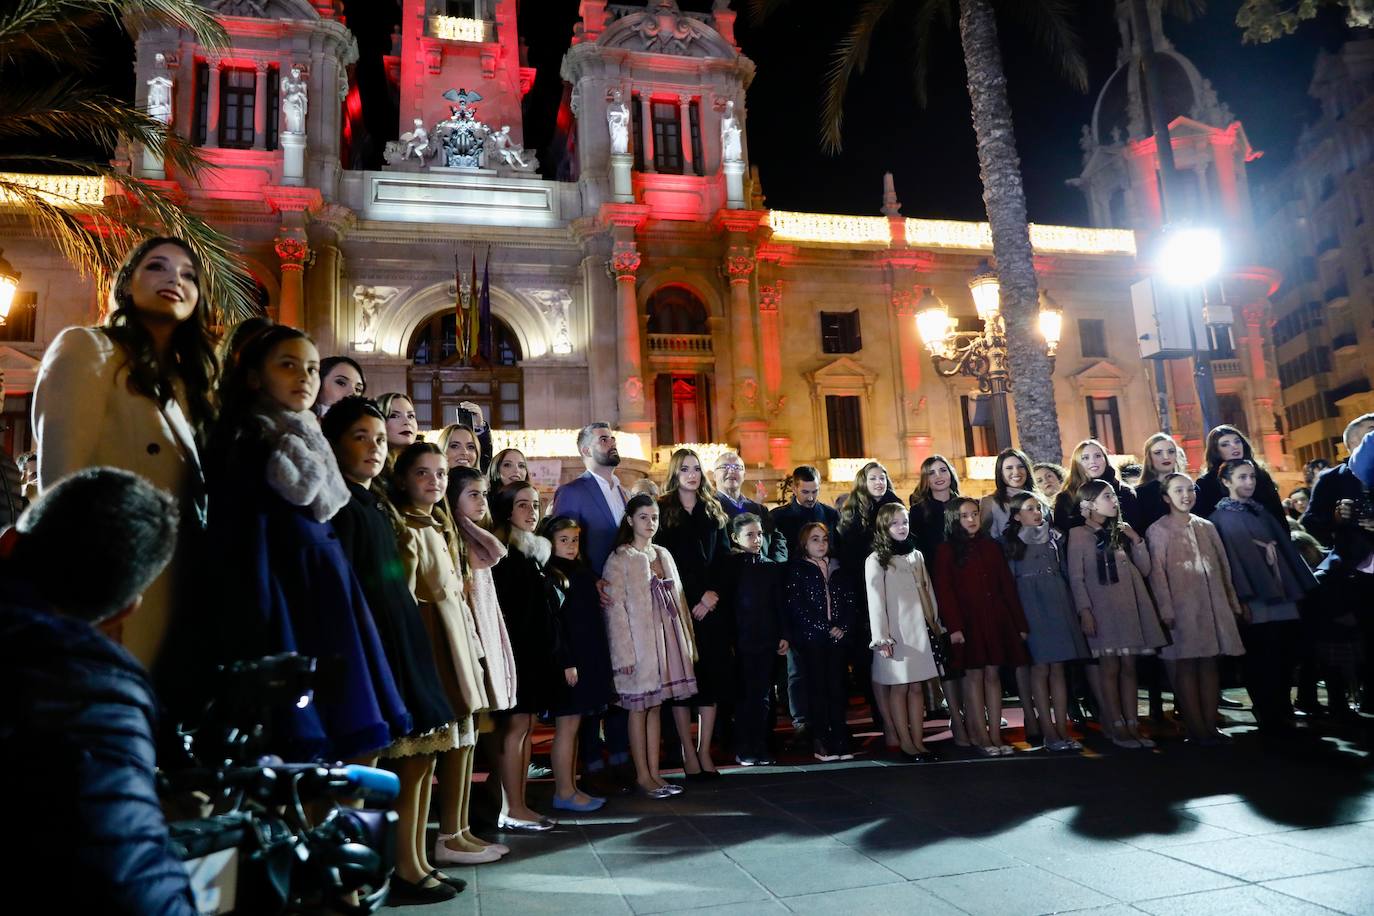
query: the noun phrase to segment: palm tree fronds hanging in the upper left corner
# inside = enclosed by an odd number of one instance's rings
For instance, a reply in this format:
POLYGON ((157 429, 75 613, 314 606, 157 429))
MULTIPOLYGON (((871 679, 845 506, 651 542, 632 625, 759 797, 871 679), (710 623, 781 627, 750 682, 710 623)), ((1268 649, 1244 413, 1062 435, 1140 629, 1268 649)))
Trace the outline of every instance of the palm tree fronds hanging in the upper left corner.
POLYGON ((257 313, 256 284, 234 254, 236 243, 190 213, 165 188, 95 157, 54 152, 121 144, 147 147, 188 181, 210 168, 185 137, 122 99, 82 84, 89 70, 88 33, 110 19, 126 27, 187 29, 207 48, 228 36, 195 0, 10 0, 0 4, 0 209, 18 210, 82 275, 106 283, 131 243, 150 233, 190 243, 205 265, 207 301, 225 324, 257 313), (34 80, 34 73, 76 76, 34 80), (16 144, 30 150, 15 151, 16 144), (34 152, 33 150, 38 150, 34 152), (95 176, 106 183, 100 203, 25 180, 18 170, 95 176))

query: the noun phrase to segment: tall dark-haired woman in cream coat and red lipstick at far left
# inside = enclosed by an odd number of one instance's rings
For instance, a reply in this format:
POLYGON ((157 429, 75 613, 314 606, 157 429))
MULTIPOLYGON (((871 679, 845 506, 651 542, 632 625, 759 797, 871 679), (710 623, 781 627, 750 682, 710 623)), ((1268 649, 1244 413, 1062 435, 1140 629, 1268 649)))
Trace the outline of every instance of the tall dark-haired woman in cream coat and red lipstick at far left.
MULTIPOLYGON (((213 420, 218 376, 201 298, 201 262, 185 242, 153 238, 125 258, 104 327, 67 328, 52 342, 33 391, 38 489, 87 467, 133 471, 181 507, 179 556, 205 523, 198 444, 213 420)), ((150 669, 173 618, 177 560, 111 633, 150 669)))

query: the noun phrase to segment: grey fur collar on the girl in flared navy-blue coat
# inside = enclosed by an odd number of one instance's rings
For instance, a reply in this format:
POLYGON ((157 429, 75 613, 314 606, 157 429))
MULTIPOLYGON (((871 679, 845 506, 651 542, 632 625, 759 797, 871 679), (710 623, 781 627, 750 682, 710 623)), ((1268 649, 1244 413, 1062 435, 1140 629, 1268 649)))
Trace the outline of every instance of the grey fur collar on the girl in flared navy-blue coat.
POLYGON ((291 505, 309 512, 316 522, 328 522, 348 505, 349 490, 339 472, 334 449, 320 433, 320 423, 309 411, 260 411, 256 413, 267 428, 271 452, 267 457, 267 483, 291 505))

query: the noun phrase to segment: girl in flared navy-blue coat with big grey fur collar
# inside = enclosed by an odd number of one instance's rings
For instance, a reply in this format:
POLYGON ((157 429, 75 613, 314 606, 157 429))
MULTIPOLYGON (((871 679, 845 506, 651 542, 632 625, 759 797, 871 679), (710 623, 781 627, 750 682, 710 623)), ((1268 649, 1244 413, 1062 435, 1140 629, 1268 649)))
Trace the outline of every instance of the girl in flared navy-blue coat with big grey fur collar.
POLYGON ((282 710, 283 755, 371 761, 411 731, 363 589, 330 519, 349 501, 309 405, 320 356, 295 328, 247 339, 220 389, 210 538, 224 580, 225 659, 301 652, 341 659, 339 689, 282 710), (245 619, 245 614, 249 619, 245 619))

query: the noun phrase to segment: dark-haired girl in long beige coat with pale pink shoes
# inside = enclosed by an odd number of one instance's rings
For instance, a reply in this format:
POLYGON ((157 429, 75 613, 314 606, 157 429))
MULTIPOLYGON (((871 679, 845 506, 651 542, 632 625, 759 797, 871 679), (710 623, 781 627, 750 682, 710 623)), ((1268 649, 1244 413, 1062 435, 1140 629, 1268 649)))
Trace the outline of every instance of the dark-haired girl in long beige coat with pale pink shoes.
MULTIPOLYGON (((475 717, 491 707, 482 645, 467 607, 458 563, 458 537, 442 509, 448 489, 448 463, 429 442, 401 449, 392 468, 392 501, 401 512, 398 540, 401 562, 420 619, 430 637, 434 665, 449 705, 458 714, 458 747, 440 754, 438 777, 440 839, 434 843, 436 865, 477 865, 499 858, 504 846, 486 843, 471 834, 469 808, 473 788, 473 747, 477 744, 475 717)), ((433 882, 453 886, 430 871, 412 886, 409 900, 444 894, 433 882)))

